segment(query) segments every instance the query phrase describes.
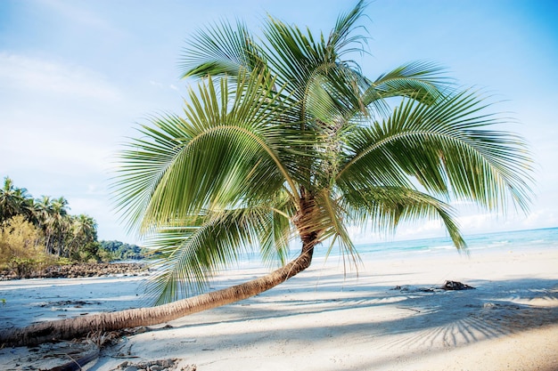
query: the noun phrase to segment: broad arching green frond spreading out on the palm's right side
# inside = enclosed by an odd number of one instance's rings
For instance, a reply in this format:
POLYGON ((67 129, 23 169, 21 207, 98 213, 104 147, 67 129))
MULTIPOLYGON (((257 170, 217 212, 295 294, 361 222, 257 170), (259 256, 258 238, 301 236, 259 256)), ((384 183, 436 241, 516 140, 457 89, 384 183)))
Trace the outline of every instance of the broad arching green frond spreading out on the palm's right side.
POLYGON ((487 108, 476 93, 466 91, 431 105, 406 100, 387 121, 355 132, 348 148, 353 156, 338 181, 409 185, 410 176, 435 194, 470 199, 490 209, 505 208, 509 195, 526 209, 526 143, 511 133, 489 130, 501 121, 485 113, 487 108))

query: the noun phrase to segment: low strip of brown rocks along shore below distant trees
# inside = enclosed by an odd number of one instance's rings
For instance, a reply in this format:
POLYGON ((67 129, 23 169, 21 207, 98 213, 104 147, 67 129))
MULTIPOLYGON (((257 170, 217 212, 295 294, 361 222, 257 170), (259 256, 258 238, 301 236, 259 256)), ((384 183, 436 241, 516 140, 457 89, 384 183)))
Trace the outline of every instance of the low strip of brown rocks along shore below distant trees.
MULTIPOLYGON (((149 268, 141 262, 97 262, 53 265, 44 270, 33 271, 22 278, 82 278, 108 276, 147 275, 149 268)), ((10 270, 0 270, 0 280, 18 279, 10 270)))

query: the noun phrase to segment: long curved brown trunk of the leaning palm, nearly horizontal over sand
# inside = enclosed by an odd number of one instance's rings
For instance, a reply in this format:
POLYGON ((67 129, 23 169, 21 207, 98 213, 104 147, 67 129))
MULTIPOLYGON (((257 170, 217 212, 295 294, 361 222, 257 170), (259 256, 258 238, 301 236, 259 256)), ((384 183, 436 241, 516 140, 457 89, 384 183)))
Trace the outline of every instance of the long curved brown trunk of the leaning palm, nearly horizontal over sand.
POLYGON ((253 279, 241 285, 201 294, 151 308, 103 312, 74 319, 61 319, 38 323, 29 327, 12 328, 0 332, 0 344, 4 346, 32 346, 55 340, 72 339, 92 331, 114 331, 122 328, 152 326, 173 319, 206 311, 231 302, 238 302, 273 288, 306 270, 312 262, 314 239, 303 238, 300 255, 282 268, 267 276, 253 279))

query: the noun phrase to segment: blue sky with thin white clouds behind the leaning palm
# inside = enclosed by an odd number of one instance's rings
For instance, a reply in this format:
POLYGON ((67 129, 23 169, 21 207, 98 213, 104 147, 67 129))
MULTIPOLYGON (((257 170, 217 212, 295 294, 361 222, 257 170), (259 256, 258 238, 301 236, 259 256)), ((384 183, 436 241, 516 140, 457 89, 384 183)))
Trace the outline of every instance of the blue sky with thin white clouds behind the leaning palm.
MULTIPOLYGON (((99 238, 138 242, 112 211, 114 154, 153 113, 180 112, 178 59, 197 28, 222 19, 257 30, 266 14, 317 32, 356 2, 271 0, 0 1, 0 176, 39 198, 64 196, 71 214, 97 221, 99 238)), ((358 61, 369 77, 411 60, 447 67, 459 85, 501 101, 505 130, 529 141, 537 162, 529 214, 461 211, 465 234, 558 226, 558 2, 376 0, 372 37, 358 61)), ((443 236, 437 222, 394 238, 443 236)), ((357 243, 375 242, 355 231, 357 243)))

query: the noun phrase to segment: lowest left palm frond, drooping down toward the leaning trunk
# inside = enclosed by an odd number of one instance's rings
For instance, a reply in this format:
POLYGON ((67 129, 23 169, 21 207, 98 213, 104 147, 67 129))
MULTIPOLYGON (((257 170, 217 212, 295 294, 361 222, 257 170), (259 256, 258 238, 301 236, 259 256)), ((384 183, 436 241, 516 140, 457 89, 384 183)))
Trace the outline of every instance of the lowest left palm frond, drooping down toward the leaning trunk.
POLYGON ((269 205, 169 222, 147 240, 158 260, 148 293, 161 304, 201 292, 218 271, 253 251, 267 264, 283 265, 292 236, 289 220, 269 205))

